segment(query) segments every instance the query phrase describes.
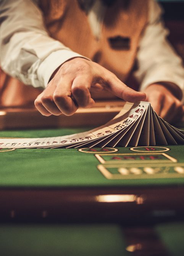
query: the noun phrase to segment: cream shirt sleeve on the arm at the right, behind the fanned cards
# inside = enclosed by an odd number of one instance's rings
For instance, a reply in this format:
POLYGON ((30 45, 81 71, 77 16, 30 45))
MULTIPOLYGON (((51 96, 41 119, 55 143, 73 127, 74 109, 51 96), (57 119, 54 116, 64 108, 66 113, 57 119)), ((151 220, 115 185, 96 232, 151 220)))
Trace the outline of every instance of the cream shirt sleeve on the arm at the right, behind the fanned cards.
POLYGON ((153 83, 176 84, 184 94, 184 68, 182 59, 167 41, 168 30, 161 20, 162 9, 154 0, 149 1, 148 25, 139 43, 137 52, 138 69, 134 76, 140 90, 153 83))

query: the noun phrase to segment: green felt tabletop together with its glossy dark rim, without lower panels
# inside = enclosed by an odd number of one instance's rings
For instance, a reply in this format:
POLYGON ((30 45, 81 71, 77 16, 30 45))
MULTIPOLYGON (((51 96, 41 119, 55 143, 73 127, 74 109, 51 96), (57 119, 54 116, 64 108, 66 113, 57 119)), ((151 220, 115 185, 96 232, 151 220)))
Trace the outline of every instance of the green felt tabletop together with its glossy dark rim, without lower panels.
MULTIPOLYGON (((84 130, 7 130, 0 137, 84 130)), ((0 158, 0 215, 5 219, 132 223, 183 217, 183 145, 2 149, 0 158)))

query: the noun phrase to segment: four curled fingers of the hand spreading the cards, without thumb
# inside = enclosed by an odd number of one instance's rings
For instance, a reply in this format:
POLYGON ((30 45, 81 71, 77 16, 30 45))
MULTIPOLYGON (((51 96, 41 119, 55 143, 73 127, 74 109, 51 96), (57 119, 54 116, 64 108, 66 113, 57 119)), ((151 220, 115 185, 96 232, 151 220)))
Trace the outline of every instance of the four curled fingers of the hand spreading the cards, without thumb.
POLYGON ((65 76, 57 80, 57 85, 52 80, 37 97, 35 106, 44 116, 62 113, 71 116, 78 106, 90 107, 94 104, 89 92, 91 80, 89 76, 77 76, 74 80, 71 76, 65 76))

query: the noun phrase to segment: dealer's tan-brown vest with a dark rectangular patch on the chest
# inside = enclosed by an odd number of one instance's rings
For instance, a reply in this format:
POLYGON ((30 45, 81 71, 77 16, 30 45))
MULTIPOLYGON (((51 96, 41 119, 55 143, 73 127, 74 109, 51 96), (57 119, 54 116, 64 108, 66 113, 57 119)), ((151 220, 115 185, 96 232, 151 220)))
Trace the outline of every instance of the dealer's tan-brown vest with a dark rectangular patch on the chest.
MULTIPOLYGON (((98 40, 77 0, 40 0, 40 8, 50 36, 126 81, 147 22, 147 0, 117 0, 107 7, 98 40)), ((25 93, 17 97, 24 98, 25 93)), ((31 97, 33 101, 35 94, 31 97)))

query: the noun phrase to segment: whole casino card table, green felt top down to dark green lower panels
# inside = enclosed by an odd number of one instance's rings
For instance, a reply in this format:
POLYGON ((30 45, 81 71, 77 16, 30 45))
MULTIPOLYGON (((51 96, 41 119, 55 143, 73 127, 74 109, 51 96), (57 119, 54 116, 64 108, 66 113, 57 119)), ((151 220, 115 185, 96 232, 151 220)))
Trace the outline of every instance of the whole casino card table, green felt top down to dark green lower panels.
POLYGON ((2 255, 183 255, 183 145, 1 149, 0 163, 2 255))

